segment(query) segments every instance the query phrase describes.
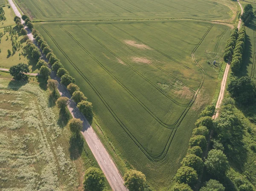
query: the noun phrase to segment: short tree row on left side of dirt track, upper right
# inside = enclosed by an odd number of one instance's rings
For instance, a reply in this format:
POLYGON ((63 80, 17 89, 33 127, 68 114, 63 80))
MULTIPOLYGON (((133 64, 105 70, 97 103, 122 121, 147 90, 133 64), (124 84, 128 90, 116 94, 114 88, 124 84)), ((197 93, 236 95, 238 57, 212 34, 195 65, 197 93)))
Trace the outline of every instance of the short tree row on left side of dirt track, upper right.
POLYGON ((230 38, 227 40, 225 51, 223 58, 225 61, 228 61, 231 59, 232 54, 233 54, 233 49, 236 46, 236 39, 238 37, 238 29, 235 28, 231 31, 230 38))

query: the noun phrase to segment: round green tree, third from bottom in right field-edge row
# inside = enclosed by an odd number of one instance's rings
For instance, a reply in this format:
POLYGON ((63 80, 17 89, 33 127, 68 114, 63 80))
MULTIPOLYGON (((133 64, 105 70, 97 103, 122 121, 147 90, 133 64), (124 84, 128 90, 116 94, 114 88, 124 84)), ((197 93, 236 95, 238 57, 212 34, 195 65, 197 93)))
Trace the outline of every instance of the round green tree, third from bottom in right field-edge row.
POLYGON ((181 165, 194 168, 198 174, 201 173, 204 168, 203 160, 195 154, 186 155, 186 157, 183 158, 181 165))

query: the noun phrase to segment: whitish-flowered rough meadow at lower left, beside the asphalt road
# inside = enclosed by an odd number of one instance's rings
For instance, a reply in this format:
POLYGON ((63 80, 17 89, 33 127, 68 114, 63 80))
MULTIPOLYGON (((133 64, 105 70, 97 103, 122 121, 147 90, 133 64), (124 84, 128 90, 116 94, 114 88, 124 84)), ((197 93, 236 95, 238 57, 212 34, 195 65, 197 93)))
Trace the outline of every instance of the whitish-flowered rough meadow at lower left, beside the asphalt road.
POLYGON ((52 104, 52 94, 33 83, 35 77, 24 84, 7 80, 2 73, 2 190, 81 190, 84 171, 98 167, 82 136, 71 136, 59 109, 52 104))

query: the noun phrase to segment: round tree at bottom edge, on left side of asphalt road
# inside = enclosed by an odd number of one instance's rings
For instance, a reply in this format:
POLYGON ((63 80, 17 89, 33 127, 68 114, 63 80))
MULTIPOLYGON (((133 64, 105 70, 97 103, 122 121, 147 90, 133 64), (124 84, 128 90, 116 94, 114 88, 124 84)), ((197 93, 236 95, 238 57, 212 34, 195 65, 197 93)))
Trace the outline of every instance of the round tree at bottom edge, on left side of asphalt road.
POLYGON ((84 190, 102 191, 104 188, 104 174, 99 168, 90 167, 84 174, 84 190))

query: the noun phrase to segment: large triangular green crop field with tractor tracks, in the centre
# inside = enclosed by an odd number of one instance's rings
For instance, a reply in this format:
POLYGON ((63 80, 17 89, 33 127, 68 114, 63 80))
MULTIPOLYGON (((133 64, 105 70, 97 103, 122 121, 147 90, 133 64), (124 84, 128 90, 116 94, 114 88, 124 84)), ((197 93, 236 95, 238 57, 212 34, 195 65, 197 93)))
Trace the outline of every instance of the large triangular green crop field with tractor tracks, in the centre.
POLYGON ((93 103, 95 122, 125 162, 156 190, 168 188, 193 124, 215 94, 219 69, 212 63, 221 62, 230 28, 189 20, 36 28, 93 103))

